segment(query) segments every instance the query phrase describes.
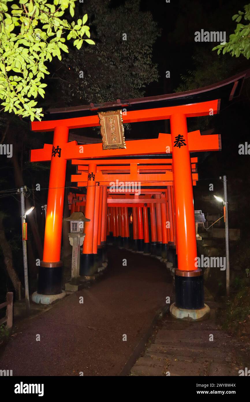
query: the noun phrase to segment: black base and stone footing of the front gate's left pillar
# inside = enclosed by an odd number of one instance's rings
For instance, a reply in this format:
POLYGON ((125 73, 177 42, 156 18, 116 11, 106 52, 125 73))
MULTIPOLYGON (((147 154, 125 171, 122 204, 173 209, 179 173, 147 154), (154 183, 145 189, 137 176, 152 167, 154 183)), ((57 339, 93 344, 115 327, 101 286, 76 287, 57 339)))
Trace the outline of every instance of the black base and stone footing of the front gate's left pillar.
POLYGON ((47 263, 41 261, 38 274, 37 292, 32 295, 32 301, 41 304, 51 304, 66 296, 62 290, 63 262, 47 263))

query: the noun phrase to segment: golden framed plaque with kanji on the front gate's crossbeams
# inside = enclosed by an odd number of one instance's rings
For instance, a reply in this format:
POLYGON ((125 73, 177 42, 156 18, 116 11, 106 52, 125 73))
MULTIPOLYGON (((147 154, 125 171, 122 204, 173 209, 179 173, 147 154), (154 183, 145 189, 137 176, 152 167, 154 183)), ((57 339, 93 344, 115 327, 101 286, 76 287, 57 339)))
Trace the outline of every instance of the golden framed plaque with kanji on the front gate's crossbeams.
POLYGON ((102 148, 104 150, 126 148, 122 111, 99 112, 98 117, 101 125, 102 148))

